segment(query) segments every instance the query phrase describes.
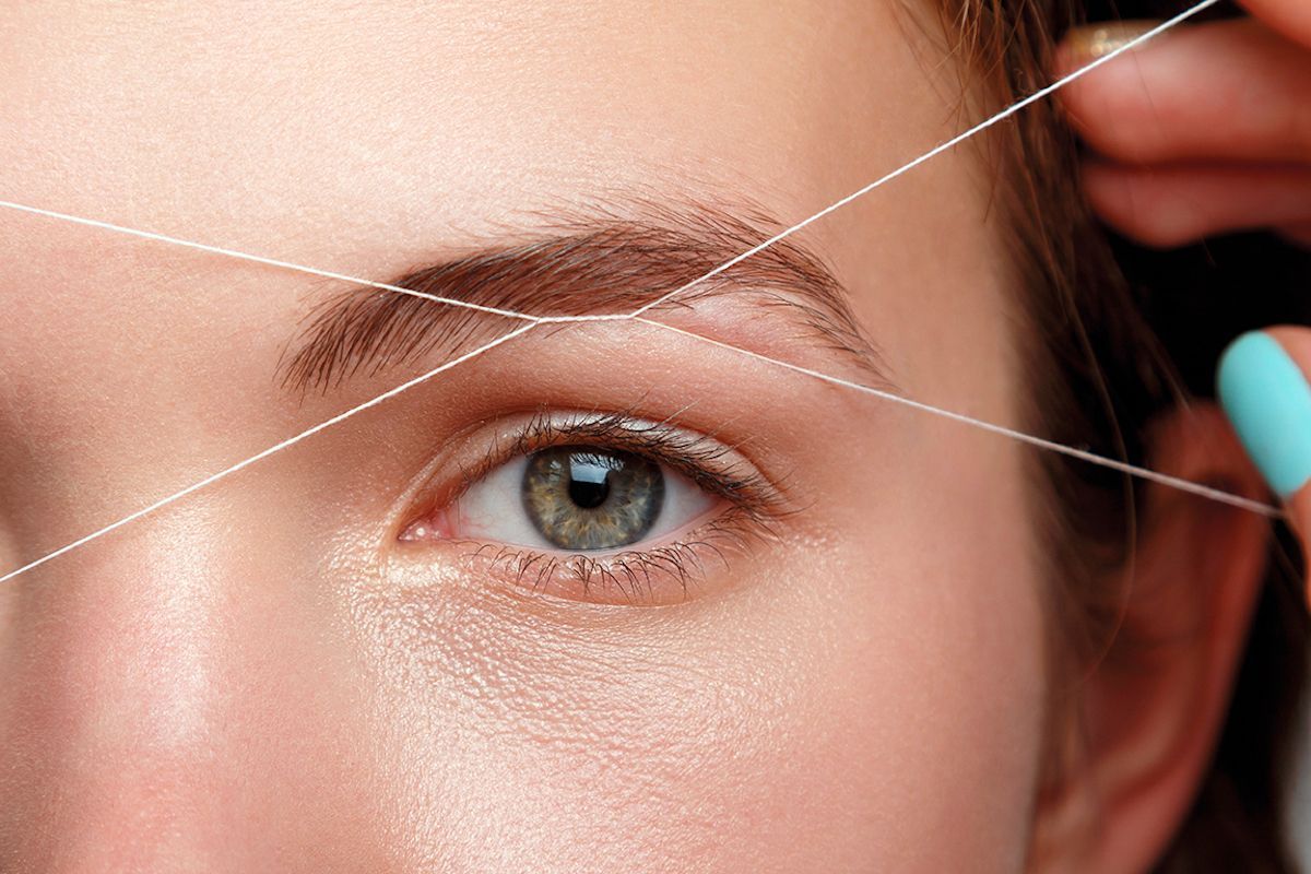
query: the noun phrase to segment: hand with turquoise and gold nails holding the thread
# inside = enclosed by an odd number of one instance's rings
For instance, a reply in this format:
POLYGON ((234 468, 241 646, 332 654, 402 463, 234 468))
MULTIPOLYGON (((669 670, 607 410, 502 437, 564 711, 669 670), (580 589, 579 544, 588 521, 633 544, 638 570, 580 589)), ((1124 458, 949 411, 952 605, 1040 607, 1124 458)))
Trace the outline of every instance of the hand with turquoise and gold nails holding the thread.
MULTIPOLYGON (((1139 242, 1272 228, 1311 245, 1311 0, 1245 5, 1252 18, 1177 28, 1061 92, 1096 153, 1093 210, 1139 242)), ((1059 72, 1143 29, 1076 30, 1059 72)), ((1311 557, 1308 379, 1307 328, 1245 334, 1219 368, 1221 401, 1311 557)))

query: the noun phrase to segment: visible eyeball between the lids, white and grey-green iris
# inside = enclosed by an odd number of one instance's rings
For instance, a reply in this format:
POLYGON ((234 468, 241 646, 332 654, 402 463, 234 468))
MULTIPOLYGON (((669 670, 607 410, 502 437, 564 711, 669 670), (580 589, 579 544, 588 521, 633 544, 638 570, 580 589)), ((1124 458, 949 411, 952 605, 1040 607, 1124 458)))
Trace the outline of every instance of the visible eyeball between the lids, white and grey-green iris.
POLYGON ((600 446, 549 447, 473 484, 452 507, 451 535, 564 552, 657 541, 718 503, 669 465, 600 446))

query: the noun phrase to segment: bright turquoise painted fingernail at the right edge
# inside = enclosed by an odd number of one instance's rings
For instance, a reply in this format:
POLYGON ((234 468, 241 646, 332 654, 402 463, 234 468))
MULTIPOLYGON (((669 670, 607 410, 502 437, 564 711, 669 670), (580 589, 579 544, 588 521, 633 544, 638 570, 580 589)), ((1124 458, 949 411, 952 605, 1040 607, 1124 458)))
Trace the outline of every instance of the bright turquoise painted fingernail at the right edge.
POLYGON ((1270 487, 1287 498, 1311 480, 1311 385, 1283 346, 1264 332, 1243 334, 1221 356, 1217 384, 1270 487))

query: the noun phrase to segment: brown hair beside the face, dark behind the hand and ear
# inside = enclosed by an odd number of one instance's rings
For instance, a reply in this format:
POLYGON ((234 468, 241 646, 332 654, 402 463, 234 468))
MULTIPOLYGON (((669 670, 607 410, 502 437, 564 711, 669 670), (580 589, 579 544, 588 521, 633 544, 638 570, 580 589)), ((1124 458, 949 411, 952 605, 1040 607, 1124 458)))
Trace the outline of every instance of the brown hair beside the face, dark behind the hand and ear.
MULTIPOLYGON (((935 10, 965 71, 969 114, 982 118, 1050 81, 1054 46, 1068 28, 1164 17, 1179 7, 937 0, 935 10)), ((1307 257, 1273 238, 1154 253, 1108 235, 1083 202, 1078 145, 1053 101, 994 128, 983 149, 1015 246, 1020 313, 1032 328, 1021 350, 1037 383, 1024 411, 1032 432, 1147 464, 1150 423, 1189 396, 1214 393, 1214 363, 1227 341, 1311 317, 1290 294, 1294 276, 1307 275, 1307 257), (1260 265, 1265 297, 1248 287, 1252 263, 1260 265)), ((1055 583, 1051 639, 1061 645, 1053 649, 1067 667, 1087 664, 1118 630, 1113 655, 1131 658, 1125 637, 1133 629, 1117 629, 1124 592, 1106 591, 1106 580, 1131 560, 1142 490, 1104 468, 1053 453, 1033 457, 1055 583)), ((1158 871, 1298 870, 1283 823, 1308 639, 1294 550, 1280 531, 1219 747, 1158 871)), ((1049 755, 1055 778, 1053 763, 1049 755)))

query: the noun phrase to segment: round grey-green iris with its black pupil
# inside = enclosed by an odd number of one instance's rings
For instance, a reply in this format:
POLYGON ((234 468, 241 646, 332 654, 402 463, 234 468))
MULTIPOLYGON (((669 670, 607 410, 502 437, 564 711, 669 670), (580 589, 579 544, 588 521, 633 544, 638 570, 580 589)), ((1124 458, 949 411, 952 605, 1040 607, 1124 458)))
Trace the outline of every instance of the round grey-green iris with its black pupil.
POLYGON ((565 446, 528 459, 523 507, 561 549, 617 549, 641 540, 659 516, 659 465, 629 452, 565 446))

